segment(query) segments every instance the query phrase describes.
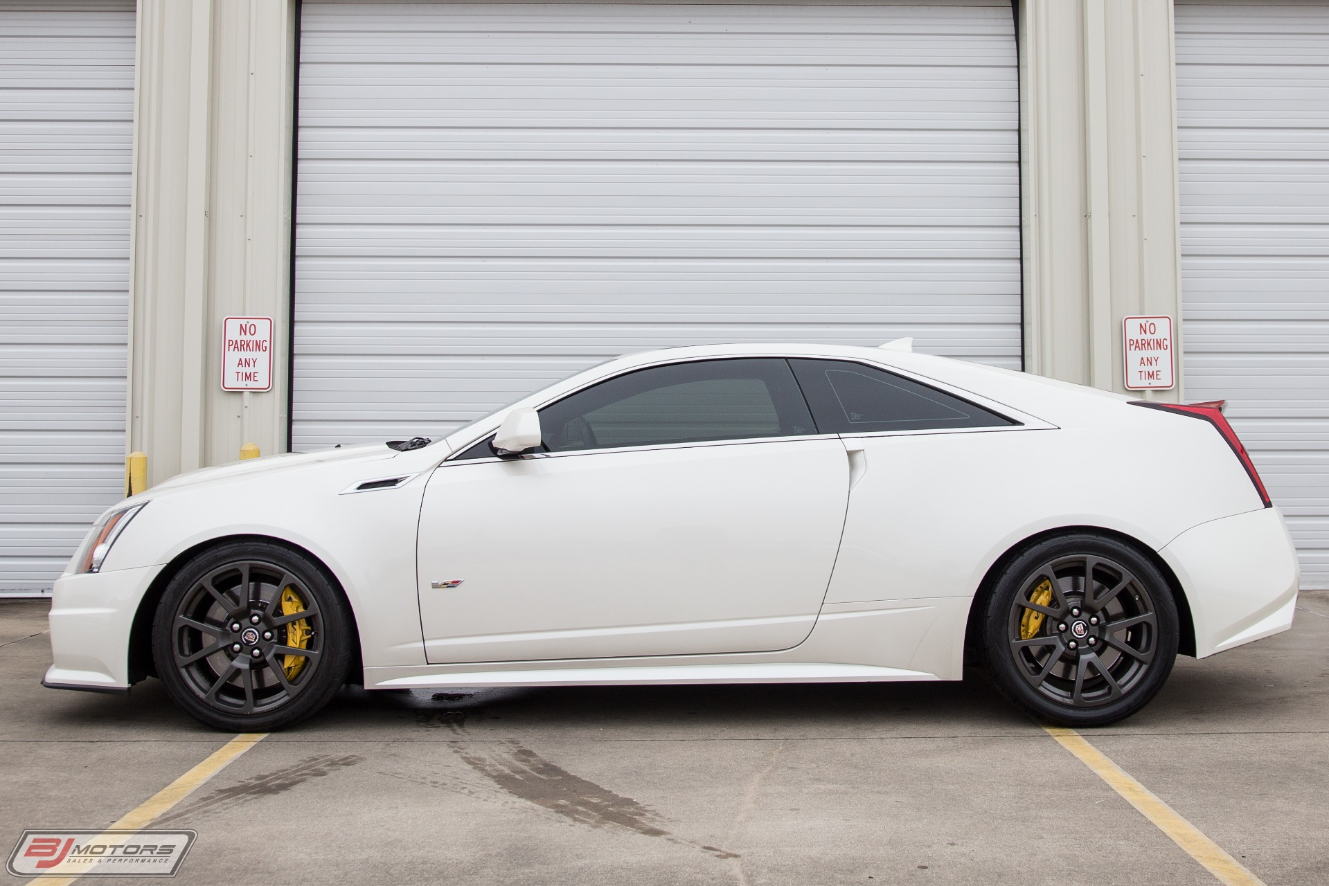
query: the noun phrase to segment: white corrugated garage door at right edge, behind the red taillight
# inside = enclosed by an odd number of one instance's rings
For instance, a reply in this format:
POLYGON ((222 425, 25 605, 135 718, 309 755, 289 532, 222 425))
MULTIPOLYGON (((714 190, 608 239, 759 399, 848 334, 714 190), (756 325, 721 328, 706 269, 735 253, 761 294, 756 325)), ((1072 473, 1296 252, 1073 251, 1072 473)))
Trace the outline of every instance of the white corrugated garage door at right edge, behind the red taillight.
POLYGON ((1329 587, 1329 3, 1179 4, 1176 57, 1185 395, 1329 587))

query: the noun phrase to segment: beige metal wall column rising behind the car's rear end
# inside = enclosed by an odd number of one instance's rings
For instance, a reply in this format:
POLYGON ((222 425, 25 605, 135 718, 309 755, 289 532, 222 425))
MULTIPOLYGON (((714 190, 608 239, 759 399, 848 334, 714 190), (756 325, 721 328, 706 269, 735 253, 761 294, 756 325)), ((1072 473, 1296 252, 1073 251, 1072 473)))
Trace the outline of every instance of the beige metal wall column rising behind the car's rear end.
POLYGON ((1025 365, 1124 391, 1122 319, 1167 313, 1180 385, 1172 3, 1021 0, 1018 28, 1025 365))

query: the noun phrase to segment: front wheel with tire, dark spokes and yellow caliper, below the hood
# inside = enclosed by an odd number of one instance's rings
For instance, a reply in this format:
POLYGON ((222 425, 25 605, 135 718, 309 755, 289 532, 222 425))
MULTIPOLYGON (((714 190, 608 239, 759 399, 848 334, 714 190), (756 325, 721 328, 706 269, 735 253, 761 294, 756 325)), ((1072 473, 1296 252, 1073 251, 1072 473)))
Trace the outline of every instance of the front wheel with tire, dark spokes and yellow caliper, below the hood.
POLYGON ((346 681, 348 612, 336 582, 307 555, 270 542, 221 545, 190 559, 157 604, 157 675, 205 725, 282 729, 346 681))

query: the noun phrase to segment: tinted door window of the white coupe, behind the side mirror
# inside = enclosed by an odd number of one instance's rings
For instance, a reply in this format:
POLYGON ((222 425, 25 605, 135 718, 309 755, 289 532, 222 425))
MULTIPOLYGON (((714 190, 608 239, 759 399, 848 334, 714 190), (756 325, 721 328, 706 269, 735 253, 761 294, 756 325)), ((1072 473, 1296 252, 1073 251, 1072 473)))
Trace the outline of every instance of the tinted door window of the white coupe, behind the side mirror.
POLYGON ((540 410, 549 452, 816 433, 784 360, 630 372, 540 410))

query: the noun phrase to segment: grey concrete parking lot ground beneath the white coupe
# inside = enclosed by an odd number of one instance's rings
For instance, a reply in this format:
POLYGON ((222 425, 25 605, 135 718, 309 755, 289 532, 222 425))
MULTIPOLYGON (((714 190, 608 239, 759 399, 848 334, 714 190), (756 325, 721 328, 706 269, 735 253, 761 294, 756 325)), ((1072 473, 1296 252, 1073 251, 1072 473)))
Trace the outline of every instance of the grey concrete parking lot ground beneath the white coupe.
MULTIPOLYGON (((1083 733, 1271 886, 1329 882, 1329 594, 1300 610, 1083 733)), ((0 603, 7 854, 114 822, 233 737, 155 681, 41 688, 44 631, 43 602, 0 603)), ((348 689, 155 825, 198 832, 182 883, 1217 882, 977 677, 348 689)))

